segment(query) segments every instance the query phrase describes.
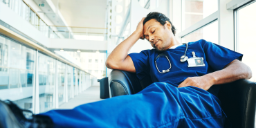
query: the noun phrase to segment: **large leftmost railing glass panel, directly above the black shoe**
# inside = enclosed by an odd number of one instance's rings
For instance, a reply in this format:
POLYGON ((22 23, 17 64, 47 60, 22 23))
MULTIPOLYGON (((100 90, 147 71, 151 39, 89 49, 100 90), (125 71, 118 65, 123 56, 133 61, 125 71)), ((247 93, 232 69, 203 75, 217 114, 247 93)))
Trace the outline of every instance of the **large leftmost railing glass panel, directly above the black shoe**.
POLYGON ((0 37, 0 56, 0 99, 12 100, 21 109, 33 111, 35 51, 0 37), (28 61, 30 64, 26 64, 28 61))

